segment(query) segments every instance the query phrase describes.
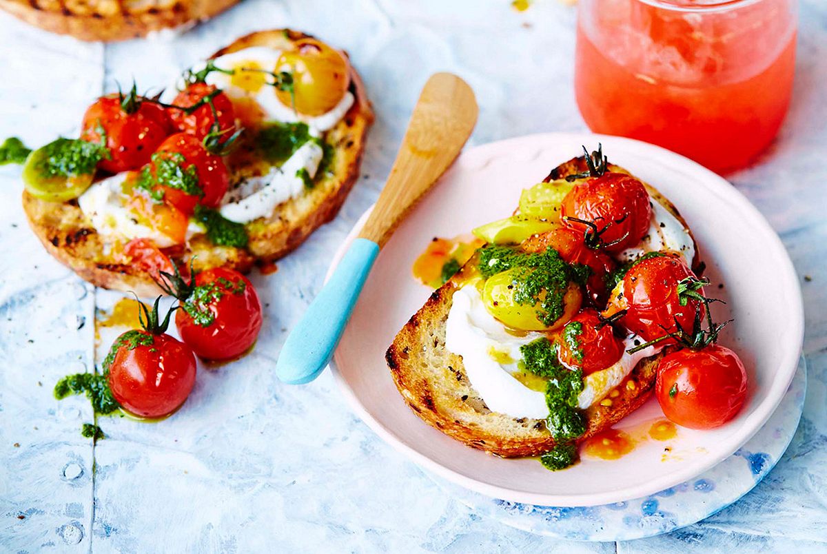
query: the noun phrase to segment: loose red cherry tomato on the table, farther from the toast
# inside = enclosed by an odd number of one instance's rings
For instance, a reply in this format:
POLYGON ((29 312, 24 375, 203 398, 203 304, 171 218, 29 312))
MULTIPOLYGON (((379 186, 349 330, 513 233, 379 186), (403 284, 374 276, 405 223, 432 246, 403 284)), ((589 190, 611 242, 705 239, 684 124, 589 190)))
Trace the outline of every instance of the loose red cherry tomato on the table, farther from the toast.
POLYGON ((193 351, 169 335, 127 331, 117 338, 112 351, 114 357, 104 368, 109 388, 129 413, 162 418, 184 404, 193 389, 193 351))

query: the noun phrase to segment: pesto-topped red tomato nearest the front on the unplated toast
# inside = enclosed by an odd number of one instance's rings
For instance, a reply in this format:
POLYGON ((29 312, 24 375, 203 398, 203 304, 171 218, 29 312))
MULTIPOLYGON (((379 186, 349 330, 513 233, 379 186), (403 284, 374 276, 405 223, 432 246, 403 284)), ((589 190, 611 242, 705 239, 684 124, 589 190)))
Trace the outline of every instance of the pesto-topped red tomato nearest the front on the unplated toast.
POLYGON ((221 156, 187 133, 177 133, 162 142, 145 171, 149 172, 153 190, 163 193, 164 202, 187 215, 193 213, 197 203, 218 207, 230 186, 230 173, 221 156))

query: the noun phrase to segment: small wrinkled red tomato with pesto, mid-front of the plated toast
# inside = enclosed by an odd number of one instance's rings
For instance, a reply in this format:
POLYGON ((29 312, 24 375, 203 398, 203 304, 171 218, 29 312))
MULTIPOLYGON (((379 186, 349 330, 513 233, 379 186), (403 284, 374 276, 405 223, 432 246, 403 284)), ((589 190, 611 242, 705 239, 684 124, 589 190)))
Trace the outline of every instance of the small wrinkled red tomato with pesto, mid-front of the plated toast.
POLYGON ((623 356, 624 344, 614 336, 612 326, 598 313, 585 309, 563 327, 558 342, 562 364, 581 368, 585 375, 605 370, 623 356))

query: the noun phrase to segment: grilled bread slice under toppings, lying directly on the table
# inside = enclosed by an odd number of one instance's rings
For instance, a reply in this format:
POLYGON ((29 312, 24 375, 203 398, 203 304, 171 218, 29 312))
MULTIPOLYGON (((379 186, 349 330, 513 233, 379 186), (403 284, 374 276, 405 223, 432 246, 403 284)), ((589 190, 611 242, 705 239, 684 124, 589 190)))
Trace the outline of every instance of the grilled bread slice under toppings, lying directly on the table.
MULTIPOLYGON (((290 42, 307 36, 289 30, 256 32, 219 50, 213 57, 250 46, 284 49, 290 42)), ((333 150, 327 173, 318 177, 307 193, 281 203, 270 217, 247 224, 250 241, 246 249, 216 246, 206 236, 194 236, 186 246, 173 246, 165 254, 179 264, 193 260, 196 270, 225 266, 246 272, 256 262, 276 260, 293 251, 311 232, 335 217, 356 182, 366 134, 373 122, 364 85, 355 71, 351 74, 351 93, 355 103, 342 121, 325 134, 325 141, 333 150)), ((23 208, 46 250, 90 283, 144 296, 160 293, 145 271, 108 246, 77 202, 47 202, 24 192, 23 208)))

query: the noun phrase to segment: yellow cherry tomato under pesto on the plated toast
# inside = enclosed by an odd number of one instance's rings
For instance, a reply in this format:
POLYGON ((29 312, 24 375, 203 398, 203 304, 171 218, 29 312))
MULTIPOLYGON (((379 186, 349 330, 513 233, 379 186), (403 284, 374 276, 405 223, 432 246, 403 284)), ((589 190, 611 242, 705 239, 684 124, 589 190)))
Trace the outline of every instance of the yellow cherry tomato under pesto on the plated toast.
POLYGON ((574 283, 570 283, 563 294, 562 315, 551 325, 546 325, 538 318, 538 310, 546 297, 546 291, 540 293, 538 302, 534 305, 514 302, 514 280, 521 270, 515 268, 503 271, 485 281, 482 300, 491 315, 508 327, 523 331, 554 331, 575 316, 583 302, 583 294, 580 287, 574 283))

